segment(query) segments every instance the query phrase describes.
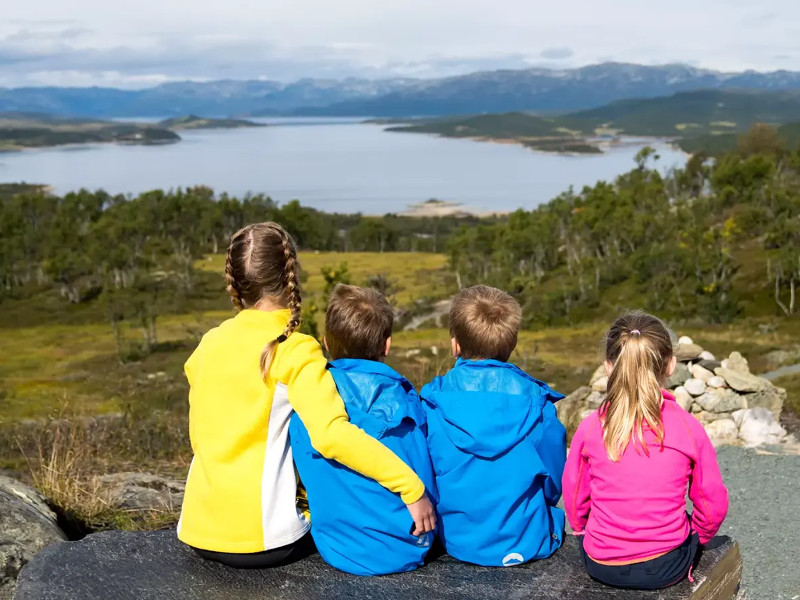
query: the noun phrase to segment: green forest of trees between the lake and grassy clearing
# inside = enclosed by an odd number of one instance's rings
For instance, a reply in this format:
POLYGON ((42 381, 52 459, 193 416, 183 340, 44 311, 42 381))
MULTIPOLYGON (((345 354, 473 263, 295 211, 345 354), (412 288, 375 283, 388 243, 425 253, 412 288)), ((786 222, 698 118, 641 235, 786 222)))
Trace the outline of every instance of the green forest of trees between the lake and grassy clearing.
POLYGON ((800 150, 756 126, 733 152, 696 154, 667 175, 650 148, 636 161, 616 181, 488 220, 324 214, 202 187, 128 198, 6 186, 0 299, 55 287, 64 302, 103 303, 112 326, 147 330, 163 307, 191 299, 198 259, 223 252, 243 225, 275 220, 303 250, 446 252, 460 285, 508 289, 529 325, 620 304, 711 323, 797 312, 800 150))

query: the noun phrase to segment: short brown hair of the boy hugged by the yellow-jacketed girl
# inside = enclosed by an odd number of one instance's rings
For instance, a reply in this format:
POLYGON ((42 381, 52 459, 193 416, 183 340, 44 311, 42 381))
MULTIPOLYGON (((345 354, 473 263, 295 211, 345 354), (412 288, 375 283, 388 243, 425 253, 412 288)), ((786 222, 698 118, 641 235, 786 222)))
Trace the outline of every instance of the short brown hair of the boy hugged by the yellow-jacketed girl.
POLYGON ((394 312, 377 290, 338 284, 325 312, 325 341, 331 358, 381 360, 392 335, 394 312))

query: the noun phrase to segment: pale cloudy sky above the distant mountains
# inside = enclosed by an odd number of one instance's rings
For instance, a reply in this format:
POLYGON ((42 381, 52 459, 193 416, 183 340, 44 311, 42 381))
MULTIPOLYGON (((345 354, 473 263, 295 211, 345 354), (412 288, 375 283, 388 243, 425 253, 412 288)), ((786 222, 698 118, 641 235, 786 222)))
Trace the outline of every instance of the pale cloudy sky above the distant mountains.
POLYGON ((800 70, 798 0, 0 0, 0 87, 800 70))

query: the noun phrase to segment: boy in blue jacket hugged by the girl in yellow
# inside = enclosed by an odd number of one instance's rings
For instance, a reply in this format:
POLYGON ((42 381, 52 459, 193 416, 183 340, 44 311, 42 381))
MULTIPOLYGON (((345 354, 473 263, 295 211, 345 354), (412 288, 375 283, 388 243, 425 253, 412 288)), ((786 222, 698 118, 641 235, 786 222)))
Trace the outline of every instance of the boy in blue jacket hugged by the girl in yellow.
MULTIPOLYGON (((337 285, 325 313, 323 343, 332 361, 328 370, 350 422, 393 450, 434 496, 419 397, 407 379, 383 362, 391 348, 393 321, 392 307, 376 290, 337 285)), ((384 575, 423 563, 433 534, 412 534, 413 524, 398 495, 323 458, 299 419, 292 419, 289 435, 308 494, 311 535, 328 564, 356 575, 384 575)))

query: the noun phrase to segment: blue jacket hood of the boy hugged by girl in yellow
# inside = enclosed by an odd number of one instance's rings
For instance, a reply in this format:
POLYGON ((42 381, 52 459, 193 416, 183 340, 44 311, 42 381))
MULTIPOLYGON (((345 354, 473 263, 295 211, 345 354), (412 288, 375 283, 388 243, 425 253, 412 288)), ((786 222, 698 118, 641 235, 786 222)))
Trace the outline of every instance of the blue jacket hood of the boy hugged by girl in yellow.
POLYGON ((391 367, 373 360, 340 358, 328 365, 350 422, 376 438, 405 419, 425 424, 414 386, 391 367))

